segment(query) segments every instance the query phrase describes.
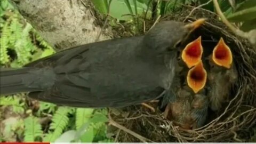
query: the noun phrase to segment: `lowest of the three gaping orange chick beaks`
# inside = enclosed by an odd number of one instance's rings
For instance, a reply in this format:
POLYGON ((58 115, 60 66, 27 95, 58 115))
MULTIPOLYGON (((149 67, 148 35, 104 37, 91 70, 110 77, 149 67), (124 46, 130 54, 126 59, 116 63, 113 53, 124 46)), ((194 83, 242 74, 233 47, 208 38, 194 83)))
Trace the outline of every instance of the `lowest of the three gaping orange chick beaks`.
POLYGON ((202 60, 188 71, 188 86, 195 92, 202 90, 206 84, 207 73, 204 69, 202 60))

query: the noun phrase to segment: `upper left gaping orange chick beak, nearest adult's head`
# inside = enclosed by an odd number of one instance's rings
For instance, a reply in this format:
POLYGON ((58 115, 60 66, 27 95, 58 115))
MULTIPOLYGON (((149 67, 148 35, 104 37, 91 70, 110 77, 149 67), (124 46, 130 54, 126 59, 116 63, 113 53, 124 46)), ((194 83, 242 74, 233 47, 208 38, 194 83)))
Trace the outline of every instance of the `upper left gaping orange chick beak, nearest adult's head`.
POLYGON ((201 61, 202 54, 203 46, 201 44, 201 36, 199 36, 195 41, 186 45, 181 53, 181 59, 186 63, 188 68, 191 68, 201 61))

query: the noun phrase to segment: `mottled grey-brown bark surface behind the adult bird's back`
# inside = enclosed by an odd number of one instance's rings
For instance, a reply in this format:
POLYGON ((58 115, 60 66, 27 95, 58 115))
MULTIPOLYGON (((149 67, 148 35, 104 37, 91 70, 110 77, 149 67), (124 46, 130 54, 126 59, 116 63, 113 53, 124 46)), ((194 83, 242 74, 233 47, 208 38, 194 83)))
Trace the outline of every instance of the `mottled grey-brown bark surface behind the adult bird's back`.
MULTIPOLYGON (((10 0, 55 50, 95 42, 100 33, 90 0, 10 0)), ((101 35, 99 41, 109 39, 101 35)))

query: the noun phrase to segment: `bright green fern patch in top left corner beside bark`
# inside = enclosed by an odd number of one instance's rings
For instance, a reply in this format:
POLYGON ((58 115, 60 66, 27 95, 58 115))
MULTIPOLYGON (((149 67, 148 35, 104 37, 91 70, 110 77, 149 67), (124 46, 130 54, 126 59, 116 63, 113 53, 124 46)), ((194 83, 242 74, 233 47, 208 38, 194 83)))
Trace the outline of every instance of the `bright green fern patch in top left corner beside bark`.
POLYGON ((21 67, 31 60, 54 53, 33 29, 21 18, 7 0, 1 0, 0 64, 21 67))

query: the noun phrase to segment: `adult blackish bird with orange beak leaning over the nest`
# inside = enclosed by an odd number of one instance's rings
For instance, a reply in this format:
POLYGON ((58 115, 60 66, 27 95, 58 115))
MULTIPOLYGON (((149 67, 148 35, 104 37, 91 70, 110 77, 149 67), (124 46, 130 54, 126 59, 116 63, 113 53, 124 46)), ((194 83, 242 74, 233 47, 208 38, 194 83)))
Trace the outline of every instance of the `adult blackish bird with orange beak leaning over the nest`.
POLYGON ((124 107, 150 101, 169 89, 177 47, 205 19, 163 21, 146 35, 64 50, 23 68, 1 69, 1 95, 73 107, 124 107))

